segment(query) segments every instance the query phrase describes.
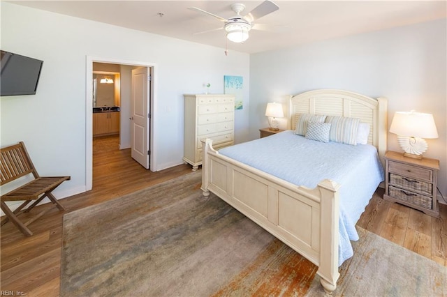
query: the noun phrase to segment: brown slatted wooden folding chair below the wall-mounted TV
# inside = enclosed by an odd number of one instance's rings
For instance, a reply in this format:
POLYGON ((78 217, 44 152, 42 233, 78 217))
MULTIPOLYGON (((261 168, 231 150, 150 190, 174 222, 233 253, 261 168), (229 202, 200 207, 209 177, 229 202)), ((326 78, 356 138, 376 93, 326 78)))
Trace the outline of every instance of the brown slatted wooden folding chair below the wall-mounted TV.
POLYGON ((34 180, 22 185, 15 190, 12 190, 5 195, 1 195, 1 210, 5 213, 6 218, 1 221, 1 226, 11 220, 15 226, 22 231, 26 236, 33 235, 31 231, 27 228, 31 222, 34 222, 38 218, 41 218, 47 211, 51 208, 47 208, 45 211, 38 213, 29 221, 22 223, 17 218, 17 216, 22 213, 28 213, 34 206, 36 206, 45 197, 48 197, 52 204, 55 204, 60 211, 65 211, 64 206, 62 206, 59 201, 52 195, 52 190, 57 188, 64 181, 68 181, 70 176, 39 176, 36 168, 31 162, 31 158, 27 152, 27 148, 23 142, 15 144, 13 146, 8 146, 6 148, 1 148, 1 167, 0 167, 0 185, 5 185, 10 181, 14 181, 17 178, 26 176, 27 174, 33 174, 34 180), (15 211, 11 211, 6 205, 5 201, 23 201, 24 202, 15 211), (35 201, 34 201, 35 200, 35 201), (23 209, 31 201, 34 201, 28 208, 23 209))

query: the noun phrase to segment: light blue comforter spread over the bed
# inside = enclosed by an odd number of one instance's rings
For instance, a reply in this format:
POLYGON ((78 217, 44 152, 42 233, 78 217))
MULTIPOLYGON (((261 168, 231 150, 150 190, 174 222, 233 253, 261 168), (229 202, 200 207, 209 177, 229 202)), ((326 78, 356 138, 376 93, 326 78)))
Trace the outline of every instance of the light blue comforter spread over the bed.
POLYGON ((219 153, 295 185, 315 188, 325 178, 337 182, 339 265, 353 256, 351 241, 358 241, 356 222, 384 178, 374 146, 316 142, 287 130, 221 148, 219 153))

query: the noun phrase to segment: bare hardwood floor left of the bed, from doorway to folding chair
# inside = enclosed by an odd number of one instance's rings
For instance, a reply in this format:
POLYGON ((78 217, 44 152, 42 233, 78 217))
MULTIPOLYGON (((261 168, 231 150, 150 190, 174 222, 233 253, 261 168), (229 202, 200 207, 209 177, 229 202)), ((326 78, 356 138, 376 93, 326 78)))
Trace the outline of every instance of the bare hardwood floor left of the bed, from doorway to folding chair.
MULTIPOLYGON (((191 172, 191 167, 150 172, 131 158, 130 149, 118 150, 117 137, 99 137, 94 139, 93 172, 93 190, 61 199, 64 213, 168 181, 191 172)), ((17 291, 27 296, 59 296, 64 213, 47 204, 36 206, 31 213, 46 207, 52 210, 29 225, 34 236, 23 236, 10 222, 1 226, 1 291, 12 290, 14 296, 17 291)), ((25 220, 26 215, 20 218, 25 220)))

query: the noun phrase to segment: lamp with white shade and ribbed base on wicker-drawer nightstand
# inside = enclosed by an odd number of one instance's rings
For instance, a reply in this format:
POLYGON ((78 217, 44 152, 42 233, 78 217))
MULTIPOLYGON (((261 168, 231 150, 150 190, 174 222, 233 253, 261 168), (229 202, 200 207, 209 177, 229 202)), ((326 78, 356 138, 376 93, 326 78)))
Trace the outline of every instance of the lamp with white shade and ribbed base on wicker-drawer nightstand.
POLYGON ((404 156, 422 159, 428 144, 424 138, 438 138, 438 131, 432 114, 421 112, 396 112, 390 132, 397 134, 397 141, 404 150, 404 156))

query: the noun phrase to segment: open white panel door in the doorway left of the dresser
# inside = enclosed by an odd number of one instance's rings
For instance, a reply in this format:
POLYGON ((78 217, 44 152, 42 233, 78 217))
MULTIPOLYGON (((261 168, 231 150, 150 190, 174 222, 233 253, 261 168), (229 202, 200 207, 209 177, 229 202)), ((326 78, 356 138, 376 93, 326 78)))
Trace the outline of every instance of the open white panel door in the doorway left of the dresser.
POLYGON ((131 155, 149 169, 149 94, 150 70, 147 67, 132 70, 131 91, 131 155))

